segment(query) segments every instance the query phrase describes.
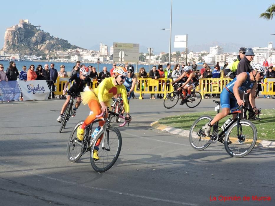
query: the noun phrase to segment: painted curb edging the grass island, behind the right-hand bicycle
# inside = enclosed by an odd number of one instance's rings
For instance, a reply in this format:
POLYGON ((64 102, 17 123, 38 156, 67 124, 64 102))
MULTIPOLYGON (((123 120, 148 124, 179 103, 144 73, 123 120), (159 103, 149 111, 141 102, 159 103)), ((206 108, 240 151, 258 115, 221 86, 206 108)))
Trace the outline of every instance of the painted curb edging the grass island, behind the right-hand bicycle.
MULTIPOLYGON (((182 137, 189 137, 189 130, 178 129, 174 127, 169 127, 165 124, 160 124, 159 121, 152 122, 150 126, 154 129, 159 129, 161 131, 167 131, 170 134, 180 135, 182 137)), ((275 142, 267 140, 257 140, 256 145, 265 147, 265 148, 275 148, 275 142)))

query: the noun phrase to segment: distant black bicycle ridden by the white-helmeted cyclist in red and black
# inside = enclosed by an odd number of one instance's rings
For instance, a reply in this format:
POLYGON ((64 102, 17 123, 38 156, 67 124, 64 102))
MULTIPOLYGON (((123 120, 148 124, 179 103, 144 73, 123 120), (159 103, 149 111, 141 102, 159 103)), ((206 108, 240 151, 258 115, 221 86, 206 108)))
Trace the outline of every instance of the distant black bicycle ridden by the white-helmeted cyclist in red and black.
MULTIPOLYGON (((182 105, 186 104, 189 108, 197 107, 202 101, 202 95, 200 92, 196 92, 195 89, 193 89, 191 96, 187 99, 187 97, 183 96, 182 89, 177 91, 179 87, 177 84, 173 84, 173 86, 175 87, 175 91, 167 94, 164 98, 163 105, 165 108, 171 109, 178 103, 179 99, 181 99, 182 105)), ((187 89, 184 90, 187 91, 187 89)))

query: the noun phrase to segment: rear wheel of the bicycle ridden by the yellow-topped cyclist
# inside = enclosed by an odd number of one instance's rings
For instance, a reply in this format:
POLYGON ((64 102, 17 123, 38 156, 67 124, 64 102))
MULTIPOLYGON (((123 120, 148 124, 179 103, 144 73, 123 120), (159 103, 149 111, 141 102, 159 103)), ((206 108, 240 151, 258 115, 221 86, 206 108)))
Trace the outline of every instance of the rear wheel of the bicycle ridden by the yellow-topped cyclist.
MULTIPOLYGON (((71 162, 76 162, 83 155, 82 141, 79 141, 76 137, 77 128, 83 124, 83 121, 78 122, 73 131, 70 134, 70 138, 67 144, 67 157, 71 162)), ((86 136, 86 134, 85 134, 86 136)), ((85 138, 84 136, 84 138, 85 138)))

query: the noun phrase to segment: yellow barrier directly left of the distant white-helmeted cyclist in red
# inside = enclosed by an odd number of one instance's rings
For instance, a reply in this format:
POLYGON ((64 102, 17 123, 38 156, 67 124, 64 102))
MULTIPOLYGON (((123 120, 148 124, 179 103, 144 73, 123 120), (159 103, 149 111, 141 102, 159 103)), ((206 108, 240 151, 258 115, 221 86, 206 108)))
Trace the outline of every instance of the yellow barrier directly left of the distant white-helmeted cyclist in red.
POLYGON ((164 94, 164 97, 174 91, 172 79, 169 78, 138 78, 134 91, 139 93, 139 99, 142 99, 142 94, 164 94), (137 87, 139 86, 139 90, 137 87), (156 91, 155 91, 156 90, 156 91))

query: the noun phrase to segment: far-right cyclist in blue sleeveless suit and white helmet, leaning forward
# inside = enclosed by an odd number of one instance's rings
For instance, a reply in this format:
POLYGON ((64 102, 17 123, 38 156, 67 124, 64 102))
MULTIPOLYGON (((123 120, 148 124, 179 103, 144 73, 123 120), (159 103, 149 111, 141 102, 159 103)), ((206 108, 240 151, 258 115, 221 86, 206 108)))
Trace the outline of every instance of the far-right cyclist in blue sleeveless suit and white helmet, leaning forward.
MULTIPOLYGON (((231 111, 234 111, 238 106, 244 105, 240 94, 248 89, 251 89, 249 95, 249 102, 253 107, 255 114, 258 114, 258 109, 255 105, 255 90, 257 85, 264 75, 264 67, 258 63, 250 63, 251 72, 242 72, 235 77, 229 84, 225 86, 220 94, 220 105, 222 111, 218 113, 211 122, 206 123, 202 129, 207 136, 209 136, 211 127, 223 117, 227 116, 231 111)), ((233 118, 235 115, 233 116, 233 118)))

